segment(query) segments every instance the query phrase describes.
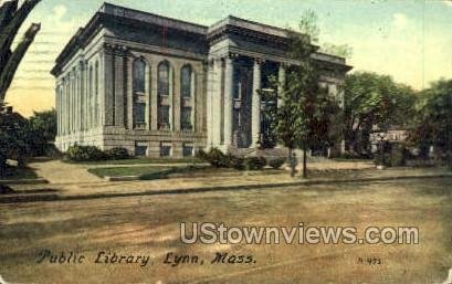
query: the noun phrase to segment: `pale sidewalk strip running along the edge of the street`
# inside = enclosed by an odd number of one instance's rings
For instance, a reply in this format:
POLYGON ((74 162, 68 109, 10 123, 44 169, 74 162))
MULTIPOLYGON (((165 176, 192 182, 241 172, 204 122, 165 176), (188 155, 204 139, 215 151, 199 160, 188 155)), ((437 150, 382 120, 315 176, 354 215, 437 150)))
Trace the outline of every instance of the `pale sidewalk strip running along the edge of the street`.
POLYGON ((15 193, 0 196, 0 203, 62 201, 96 198, 193 193, 245 189, 270 189, 341 182, 372 182, 398 179, 452 178, 452 171, 437 168, 395 168, 388 170, 350 170, 312 172, 311 178, 277 175, 246 175, 235 177, 171 178, 150 181, 50 183, 17 186, 15 193))

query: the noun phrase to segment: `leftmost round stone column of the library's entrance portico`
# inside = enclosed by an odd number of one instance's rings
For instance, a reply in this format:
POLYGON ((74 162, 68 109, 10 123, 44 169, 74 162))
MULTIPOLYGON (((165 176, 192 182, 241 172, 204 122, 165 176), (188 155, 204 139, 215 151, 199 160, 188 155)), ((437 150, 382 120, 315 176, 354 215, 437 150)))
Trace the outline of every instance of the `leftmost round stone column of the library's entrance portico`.
POLYGON ((232 144, 233 118, 233 61, 224 60, 224 146, 228 149, 232 144))

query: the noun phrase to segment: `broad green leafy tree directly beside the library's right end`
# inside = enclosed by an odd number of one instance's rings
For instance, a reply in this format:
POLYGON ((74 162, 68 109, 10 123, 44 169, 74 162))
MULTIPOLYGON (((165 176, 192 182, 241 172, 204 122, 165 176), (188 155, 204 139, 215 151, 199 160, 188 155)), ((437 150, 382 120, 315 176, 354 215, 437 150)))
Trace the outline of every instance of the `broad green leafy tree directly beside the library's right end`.
POLYGON ((357 72, 345 81, 346 149, 357 154, 369 151, 372 127, 387 130, 407 127, 414 114, 414 91, 393 82, 390 76, 357 72))

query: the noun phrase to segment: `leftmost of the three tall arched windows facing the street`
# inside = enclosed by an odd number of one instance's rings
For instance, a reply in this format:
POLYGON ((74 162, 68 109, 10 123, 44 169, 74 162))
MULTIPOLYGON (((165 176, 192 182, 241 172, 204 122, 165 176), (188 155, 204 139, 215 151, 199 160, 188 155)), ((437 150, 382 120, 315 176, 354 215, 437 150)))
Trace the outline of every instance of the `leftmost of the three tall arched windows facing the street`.
POLYGON ((134 127, 146 127, 146 74, 147 63, 144 59, 136 59, 133 65, 134 90, 134 127))

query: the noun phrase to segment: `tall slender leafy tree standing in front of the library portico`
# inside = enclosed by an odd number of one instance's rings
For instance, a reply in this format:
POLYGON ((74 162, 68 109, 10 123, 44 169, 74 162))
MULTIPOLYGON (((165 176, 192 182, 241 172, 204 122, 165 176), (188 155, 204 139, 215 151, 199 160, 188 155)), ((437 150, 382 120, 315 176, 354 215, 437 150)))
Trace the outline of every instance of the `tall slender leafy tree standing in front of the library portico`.
MULTIPOLYGON (((272 80, 281 92, 274 93, 281 103, 274 119, 277 140, 288 148, 290 159, 294 149, 303 150, 303 177, 307 177, 307 149, 330 143, 332 117, 337 114, 337 102, 319 85, 320 66, 312 59, 318 28, 316 17, 307 11, 301 21, 302 33, 290 34, 287 53, 297 64, 286 70, 285 85, 272 80)), ((274 87, 276 90, 276 87, 274 87)), ((267 99, 269 101, 269 99, 267 99)), ((270 99, 271 101, 271 99, 270 99)), ((294 175, 294 168, 291 175, 294 175)))

